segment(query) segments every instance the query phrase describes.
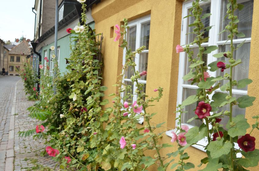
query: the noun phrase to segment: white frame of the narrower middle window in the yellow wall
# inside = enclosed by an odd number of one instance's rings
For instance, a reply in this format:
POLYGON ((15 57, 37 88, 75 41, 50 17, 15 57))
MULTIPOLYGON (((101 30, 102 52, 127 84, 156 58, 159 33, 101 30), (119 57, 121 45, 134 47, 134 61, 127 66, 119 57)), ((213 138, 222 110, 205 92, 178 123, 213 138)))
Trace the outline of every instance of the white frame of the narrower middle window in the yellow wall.
MULTIPOLYGON (((150 15, 146 15, 144 17, 141 17, 141 18, 138 18, 138 19, 135 19, 133 21, 130 21, 128 23, 128 26, 131 27, 131 26, 137 26, 137 32, 136 32, 136 50, 138 48, 140 48, 140 32, 141 32, 141 24, 142 23, 145 23, 145 22, 148 22, 148 21, 151 21, 151 16, 150 15)), ((127 29, 128 31, 128 29, 127 29)), ((128 39, 128 38, 127 38, 128 39)), ((141 53, 148 53, 148 50, 143 50, 141 53)), ((141 54, 140 53, 140 54, 141 54)), ((135 63, 137 64, 137 66, 135 68, 139 68, 139 58, 140 58, 140 54, 136 53, 136 56, 135 56, 135 63)), ((123 65, 125 65, 126 63, 126 59, 125 59, 125 56, 126 56, 126 48, 124 48, 123 50, 123 59, 122 59, 122 63, 123 65)), ((139 71, 139 72, 142 72, 142 71, 139 71)), ((123 83, 124 81, 128 81, 128 82, 132 82, 130 78, 124 78, 125 75, 123 76, 123 83)), ((146 84, 147 85, 147 81, 146 80, 138 80, 139 83, 143 83, 143 84, 146 84)), ((137 89, 137 84, 136 82, 134 82, 134 85, 133 85, 133 91, 137 89)), ((123 97, 123 93, 121 93, 121 97, 123 97)), ((134 94, 133 95, 133 98, 132 98, 133 102, 134 101, 137 101, 137 95, 134 94)), ((123 101, 122 101, 123 103, 123 101)), ((139 119, 139 123, 140 124, 143 124, 144 123, 144 117, 140 117, 139 119)))

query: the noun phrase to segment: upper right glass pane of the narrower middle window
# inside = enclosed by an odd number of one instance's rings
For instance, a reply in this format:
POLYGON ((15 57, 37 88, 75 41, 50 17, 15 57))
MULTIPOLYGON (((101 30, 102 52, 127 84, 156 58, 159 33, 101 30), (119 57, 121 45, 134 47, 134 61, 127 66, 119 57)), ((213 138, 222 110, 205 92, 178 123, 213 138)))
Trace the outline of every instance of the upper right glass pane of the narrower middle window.
POLYGON ((146 46, 146 50, 149 47, 149 32, 150 32, 150 21, 141 24, 140 31, 140 47, 146 46))

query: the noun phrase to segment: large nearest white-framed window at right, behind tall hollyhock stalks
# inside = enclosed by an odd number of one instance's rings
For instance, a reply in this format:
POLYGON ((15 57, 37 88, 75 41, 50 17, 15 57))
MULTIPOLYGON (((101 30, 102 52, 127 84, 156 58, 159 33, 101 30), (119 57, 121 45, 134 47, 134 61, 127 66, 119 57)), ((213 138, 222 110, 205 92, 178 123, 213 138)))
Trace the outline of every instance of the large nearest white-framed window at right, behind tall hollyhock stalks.
MULTIPOLYGON (((183 14, 182 17, 185 17, 186 15, 190 14, 190 8, 192 7, 193 1, 187 1, 183 4, 183 14)), ((248 70, 249 70, 249 56, 250 56, 250 42, 251 42, 251 28, 252 28, 252 15, 253 15, 253 4, 254 0, 237 0, 237 3, 241 3, 244 5, 244 9, 242 11, 236 10, 235 15, 238 16, 239 23, 238 23, 238 30, 240 32, 243 32, 246 36, 239 38, 235 37, 233 40, 234 46, 236 47, 238 44, 243 42, 245 40, 245 43, 242 47, 240 47, 238 50, 235 51, 234 58, 241 59, 242 63, 235 67, 233 70, 233 79, 234 80, 241 80, 243 78, 248 77, 248 70)), ((224 32, 223 34, 218 35, 219 32, 221 32, 225 26, 228 24, 229 20, 225 19, 224 17, 226 15, 226 4, 227 0, 211 0, 209 2, 201 2, 201 8, 203 9, 203 14, 205 13, 211 13, 212 15, 206 19, 203 19, 202 22, 205 27, 207 26, 213 26, 212 29, 208 32, 205 32, 204 37, 208 37, 208 42, 202 43, 203 47, 211 46, 211 45, 217 45, 218 51, 215 50, 210 54, 204 54, 203 60, 205 61, 205 64, 210 64, 213 61, 216 60, 225 60, 225 59, 217 59, 213 57, 212 55, 219 53, 219 52, 227 52, 229 49, 230 41, 227 41, 227 35, 228 32, 224 32)), ((185 18, 183 19, 182 24, 182 32, 181 32, 181 44, 187 44, 193 41, 195 35, 193 34, 187 34, 192 32, 193 28, 188 27, 190 23, 192 23, 195 19, 194 18, 185 18)), ((193 48, 194 55, 197 56, 198 53, 198 46, 197 45, 190 45, 190 48, 193 48)), ((188 57, 186 56, 186 53, 180 53, 180 61, 179 61, 179 80, 178 80, 178 95, 177 95, 177 103, 181 104, 182 101, 184 101, 187 97, 190 95, 196 94, 196 91, 198 89, 197 84, 191 85, 191 81, 184 81, 182 77, 190 72, 189 68, 189 62, 188 57)), ((226 69, 224 72, 221 72, 220 70, 217 70, 217 72, 210 72, 208 70, 211 77, 217 77, 219 75, 224 75, 225 73, 229 73, 229 69, 226 69)), ((227 80, 221 81, 221 86, 227 83, 227 80)), ((235 88, 235 87, 234 87, 235 88)), ((222 92, 222 93, 228 93, 226 91, 221 91, 220 88, 216 90, 216 92, 222 92)), ((232 91, 233 97, 240 97, 242 95, 247 94, 247 87, 242 89, 234 89, 232 91)), ((211 98, 213 94, 209 95, 211 98)), ((184 108, 187 113, 183 115, 182 123, 184 125, 188 125, 190 127, 192 126, 200 126, 203 121, 196 119, 191 122, 187 122, 190 118, 193 118, 195 116, 194 109, 196 108, 197 103, 191 104, 189 106, 186 106, 184 108)), ((220 109, 222 110, 228 110, 228 106, 225 106, 220 109)), ((239 115, 239 114, 245 114, 245 108, 239 108, 237 105, 233 106, 233 116, 239 115)), ((177 114, 179 115, 179 114, 177 114)), ((221 124, 224 126, 227 123, 227 117, 222 118, 221 124)), ((176 122, 177 124, 177 122, 176 122)))

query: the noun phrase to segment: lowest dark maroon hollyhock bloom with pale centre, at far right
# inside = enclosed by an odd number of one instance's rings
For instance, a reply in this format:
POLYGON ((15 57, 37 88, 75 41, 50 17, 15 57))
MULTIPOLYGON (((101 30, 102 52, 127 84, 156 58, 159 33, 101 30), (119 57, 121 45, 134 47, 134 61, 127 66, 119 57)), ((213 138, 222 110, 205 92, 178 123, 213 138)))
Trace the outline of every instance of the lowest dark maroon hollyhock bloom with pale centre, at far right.
POLYGON ((237 140, 238 146, 245 152, 254 151, 255 138, 246 134, 237 140))

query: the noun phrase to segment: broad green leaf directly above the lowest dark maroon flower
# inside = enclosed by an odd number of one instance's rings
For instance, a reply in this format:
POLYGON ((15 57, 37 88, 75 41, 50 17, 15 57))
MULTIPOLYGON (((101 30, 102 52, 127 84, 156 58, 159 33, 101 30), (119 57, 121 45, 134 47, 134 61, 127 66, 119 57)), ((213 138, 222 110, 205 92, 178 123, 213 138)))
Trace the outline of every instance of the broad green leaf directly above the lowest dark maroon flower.
POLYGON ((247 123, 247 119, 245 119, 245 115, 243 114, 233 117, 232 122, 236 124, 234 127, 230 127, 229 121, 226 125, 226 128, 228 129, 228 135, 230 135, 231 137, 245 135, 247 132, 247 128, 250 127, 250 125, 247 123))

